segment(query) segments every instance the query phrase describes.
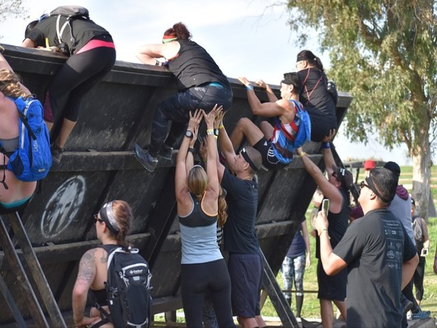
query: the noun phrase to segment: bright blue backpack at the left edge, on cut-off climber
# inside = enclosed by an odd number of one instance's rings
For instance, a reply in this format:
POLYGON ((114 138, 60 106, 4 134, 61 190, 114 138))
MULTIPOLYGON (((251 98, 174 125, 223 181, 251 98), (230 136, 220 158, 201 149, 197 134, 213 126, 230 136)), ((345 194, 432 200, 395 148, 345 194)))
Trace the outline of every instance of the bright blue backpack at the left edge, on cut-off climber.
MULTIPOLYGON (((9 99, 18 110, 18 147, 8 153, 0 143, 0 152, 9 157, 8 165, 1 165, 0 169, 9 169, 21 181, 41 180, 51 167, 49 130, 42 119, 41 103, 32 97, 9 99)), ((3 174, 3 185, 4 179, 3 174)), ((5 188, 8 189, 6 185, 5 188)))

